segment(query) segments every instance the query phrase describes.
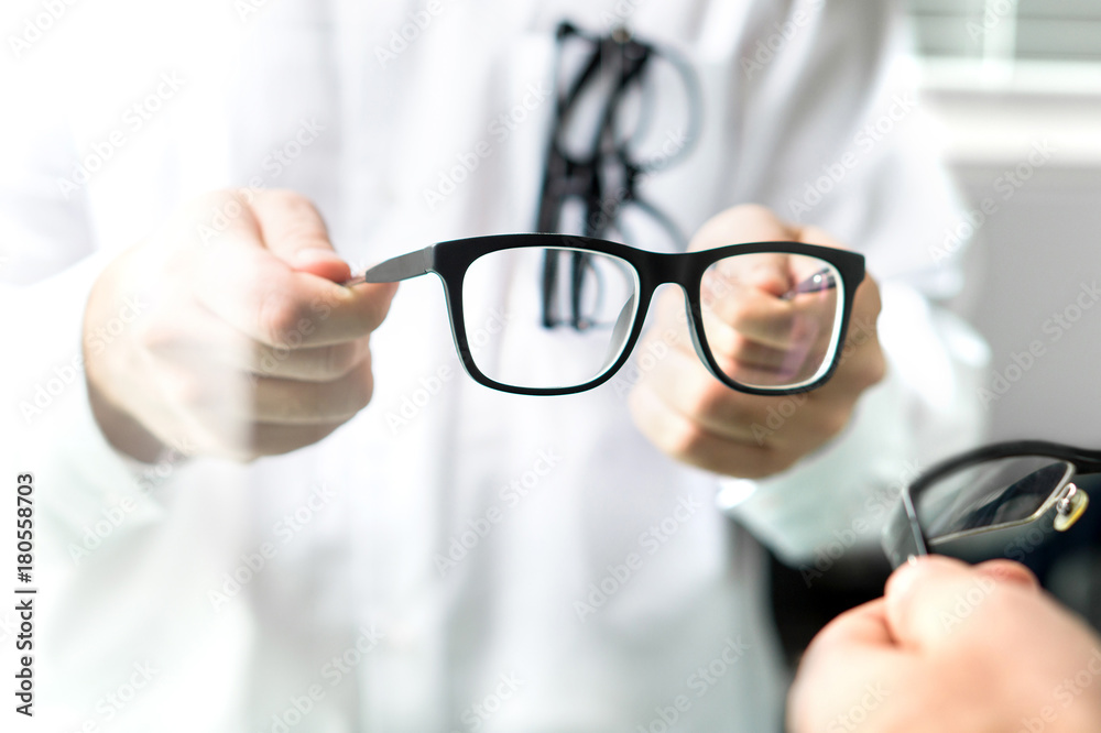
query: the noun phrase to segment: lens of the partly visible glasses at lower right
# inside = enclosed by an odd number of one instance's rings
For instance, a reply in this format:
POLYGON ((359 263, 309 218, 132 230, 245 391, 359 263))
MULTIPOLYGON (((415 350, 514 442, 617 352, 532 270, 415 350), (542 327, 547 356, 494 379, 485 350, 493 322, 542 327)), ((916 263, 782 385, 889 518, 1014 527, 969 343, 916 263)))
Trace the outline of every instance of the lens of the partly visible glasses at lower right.
POLYGON ((1023 522, 1072 474, 1070 463, 1038 456, 985 461, 929 486, 918 499, 918 519, 930 541, 1023 522))

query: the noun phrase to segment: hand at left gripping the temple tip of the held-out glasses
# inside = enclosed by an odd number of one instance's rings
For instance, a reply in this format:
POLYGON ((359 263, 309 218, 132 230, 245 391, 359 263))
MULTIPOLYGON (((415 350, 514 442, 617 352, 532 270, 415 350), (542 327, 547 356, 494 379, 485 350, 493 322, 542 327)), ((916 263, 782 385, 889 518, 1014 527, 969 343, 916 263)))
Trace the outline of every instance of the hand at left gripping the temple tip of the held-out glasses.
POLYGON ((85 371, 103 434, 143 460, 165 446, 251 460, 333 433, 371 398, 368 340, 396 291, 338 284, 349 275, 297 194, 185 207, 88 298, 85 371))

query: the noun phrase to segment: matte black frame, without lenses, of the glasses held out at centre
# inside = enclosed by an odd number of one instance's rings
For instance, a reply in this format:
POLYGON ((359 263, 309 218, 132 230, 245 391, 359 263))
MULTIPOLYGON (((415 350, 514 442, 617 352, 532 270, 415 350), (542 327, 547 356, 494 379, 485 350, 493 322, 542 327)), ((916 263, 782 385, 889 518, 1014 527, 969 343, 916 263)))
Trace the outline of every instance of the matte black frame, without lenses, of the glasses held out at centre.
POLYGON ((386 260, 368 270, 359 278, 356 278, 355 282, 396 282, 429 272, 435 273, 444 285, 451 338, 459 354, 459 362, 467 374, 479 384, 498 390, 499 392, 531 396, 579 394, 596 389, 612 379, 633 353, 642 333, 643 324, 646 320, 646 314, 648 313, 653 295, 658 286, 665 284, 680 286, 685 295, 685 309, 688 314, 688 330, 691 335, 696 353, 701 358, 704 365, 711 375, 726 386, 745 394, 767 396, 810 392, 829 381, 838 368, 840 354, 843 351, 844 339, 848 333, 855 291, 860 286, 860 283, 863 282, 865 274, 864 256, 862 254, 831 247, 807 244, 805 242, 745 242, 695 252, 671 253, 640 250, 620 242, 575 234, 517 233, 469 237, 429 244, 423 250, 416 250, 386 260), (639 303, 635 305, 634 322, 631 325, 631 331, 623 341, 620 354, 600 374, 580 385, 569 387, 523 387, 504 384, 482 373, 475 363, 473 355, 470 352, 466 335, 466 322, 462 317, 462 284, 467 269, 476 260, 491 252, 528 248, 574 249, 608 254, 626 262, 634 269, 639 276, 639 303), (731 380, 722 373, 711 353, 710 347, 707 346, 706 333, 702 332, 704 315, 699 285, 707 267, 719 260, 734 254, 759 254, 764 252, 814 256, 832 265, 841 277, 840 328, 836 335, 830 364, 828 369, 821 371, 817 379, 796 386, 755 387, 731 380), (669 274, 662 274, 663 272, 669 274))

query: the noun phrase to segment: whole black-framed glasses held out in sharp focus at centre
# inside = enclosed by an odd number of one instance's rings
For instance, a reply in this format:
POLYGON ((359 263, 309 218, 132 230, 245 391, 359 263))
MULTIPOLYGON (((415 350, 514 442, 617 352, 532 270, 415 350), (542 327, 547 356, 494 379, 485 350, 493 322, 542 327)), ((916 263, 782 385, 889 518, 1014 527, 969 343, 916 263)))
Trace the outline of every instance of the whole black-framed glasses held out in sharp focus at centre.
POLYGON ((829 379, 864 259, 802 242, 662 253, 586 237, 500 234, 432 244, 346 285, 429 272, 444 283, 464 369, 494 390, 562 395, 604 383, 637 342, 654 291, 669 283, 684 292, 688 333, 711 374, 740 392, 776 395, 829 379), (575 328, 544 328, 544 263, 578 253, 584 266, 559 285, 570 289, 575 328))

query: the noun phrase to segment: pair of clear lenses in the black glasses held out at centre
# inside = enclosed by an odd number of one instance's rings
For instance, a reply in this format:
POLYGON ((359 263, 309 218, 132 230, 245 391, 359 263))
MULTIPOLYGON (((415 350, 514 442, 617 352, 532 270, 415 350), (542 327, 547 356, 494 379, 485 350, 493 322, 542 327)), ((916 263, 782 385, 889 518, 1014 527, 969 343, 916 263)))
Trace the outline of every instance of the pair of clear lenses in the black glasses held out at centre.
MULTIPOLYGON (((640 287, 634 265, 600 252, 564 247, 484 254, 462 284, 471 359, 487 378, 515 387, 591 382, 617 362, 635 319, 644 317, 640 287), (548 271, 556 276, 547 280, 548 271), (544 286, 532 287, 541 276, 544 286), (559 325, 568 328, 554 328, 559 325)), ((837 269, 818 258, 724 258, 699 283, 704 341, 720 371, 740 384, 805 384, 828 369, 837 350, 841 287, 837 269)))

